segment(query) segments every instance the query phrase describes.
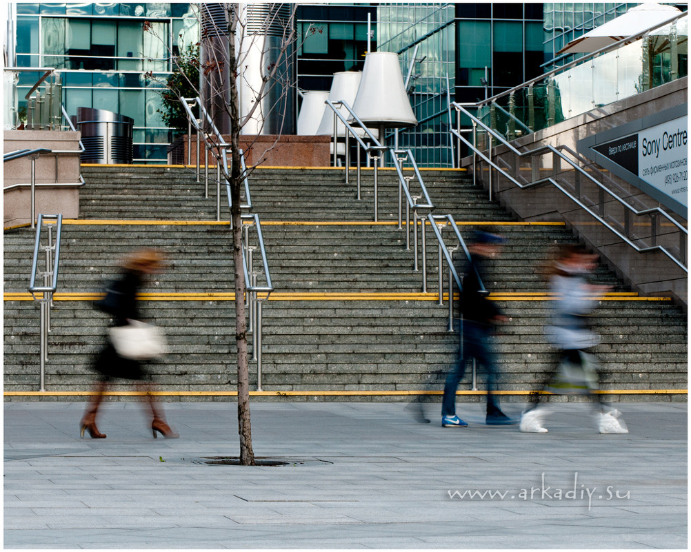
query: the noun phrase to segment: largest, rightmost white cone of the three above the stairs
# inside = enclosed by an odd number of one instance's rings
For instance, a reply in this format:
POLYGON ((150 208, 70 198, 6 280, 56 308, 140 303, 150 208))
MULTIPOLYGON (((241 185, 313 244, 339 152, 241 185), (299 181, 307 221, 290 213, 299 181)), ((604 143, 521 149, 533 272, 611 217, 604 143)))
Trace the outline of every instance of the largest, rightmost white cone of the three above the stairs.
POLYGON ((352 108, 364 124, 375 129, 403 129, 417 124, 396 53, 366 55, 352 108))

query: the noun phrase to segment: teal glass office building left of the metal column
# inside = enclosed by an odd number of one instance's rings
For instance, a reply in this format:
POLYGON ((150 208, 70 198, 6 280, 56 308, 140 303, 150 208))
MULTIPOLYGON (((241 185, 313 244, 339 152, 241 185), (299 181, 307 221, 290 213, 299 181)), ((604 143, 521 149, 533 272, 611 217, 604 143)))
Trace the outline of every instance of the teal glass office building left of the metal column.
MULTIPOLYGON (((17 66, 58 70, 70 116, 91 107, 132 117, 134 162, 167 162, 172 131, 162 121, 160 90, 181 44, 198 41, 194 6, 17 3, 16 10, 17 66)), ((43 74, 18 73, 20 106, 43 74)))

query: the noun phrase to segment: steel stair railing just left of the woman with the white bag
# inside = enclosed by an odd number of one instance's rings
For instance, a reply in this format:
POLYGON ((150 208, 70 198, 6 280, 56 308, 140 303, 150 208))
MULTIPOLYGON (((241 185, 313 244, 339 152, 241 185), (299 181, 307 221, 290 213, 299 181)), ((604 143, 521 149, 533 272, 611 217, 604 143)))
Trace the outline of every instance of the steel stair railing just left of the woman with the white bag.
POLYGON ((39 214, 36 229, 36 240, 34 242, 34 257, 31 262, 31 276, 29 278, 29 292, 34 301, 39 301, 41 309, 40 335, 40 391, 46 390, 46 361, 48 361, 48 332, 50 332, 50 309, 53 307, 53 294, 57 289, 57 274, 60 263, 60 237, 62 234, 62 215, 39 214), (55 242, 53 242, 53 225, 48 227, 48 240, 45 245, 41 245, 41 229, 44 220, 56 221, 55 242), (43 285, 36 285, 37 267, 39 262, 39 251, 45 253, 45 270, 41 272, 43 285), (42 296, 37 300, 36 294, 42 296))

